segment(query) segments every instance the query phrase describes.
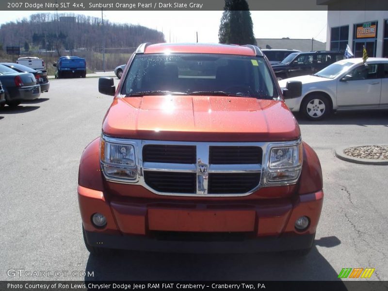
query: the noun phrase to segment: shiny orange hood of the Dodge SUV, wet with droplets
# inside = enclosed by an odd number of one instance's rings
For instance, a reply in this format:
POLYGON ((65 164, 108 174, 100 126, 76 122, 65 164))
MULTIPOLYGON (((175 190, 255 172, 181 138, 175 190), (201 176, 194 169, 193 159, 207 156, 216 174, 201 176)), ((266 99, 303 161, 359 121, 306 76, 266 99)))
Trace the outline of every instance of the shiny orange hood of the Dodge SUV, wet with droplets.
POLYGON ((103 133, 170 141, 290 141, 299 126, 283 101, 220 96, 115 98, 103 133))

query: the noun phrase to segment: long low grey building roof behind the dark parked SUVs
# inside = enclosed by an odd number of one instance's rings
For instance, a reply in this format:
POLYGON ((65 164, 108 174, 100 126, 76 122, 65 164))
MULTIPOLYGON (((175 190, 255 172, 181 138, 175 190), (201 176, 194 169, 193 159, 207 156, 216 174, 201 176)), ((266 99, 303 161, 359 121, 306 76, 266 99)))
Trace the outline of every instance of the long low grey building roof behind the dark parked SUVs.
POLYGON ((303 38, 257 38, 260 49, 298 49, 301 51, 325 50, 326 43, 303 38))

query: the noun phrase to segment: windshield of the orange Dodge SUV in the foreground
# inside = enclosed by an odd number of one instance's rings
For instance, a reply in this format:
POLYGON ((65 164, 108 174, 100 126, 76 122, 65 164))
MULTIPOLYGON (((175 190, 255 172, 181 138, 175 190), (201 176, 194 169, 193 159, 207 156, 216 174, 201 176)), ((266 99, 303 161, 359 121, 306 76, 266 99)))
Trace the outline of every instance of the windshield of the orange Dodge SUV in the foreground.
POLYGON ((278 97, 263 57, 204 53, 136 55, 121 94, 144 96, 168 93, 278 97))

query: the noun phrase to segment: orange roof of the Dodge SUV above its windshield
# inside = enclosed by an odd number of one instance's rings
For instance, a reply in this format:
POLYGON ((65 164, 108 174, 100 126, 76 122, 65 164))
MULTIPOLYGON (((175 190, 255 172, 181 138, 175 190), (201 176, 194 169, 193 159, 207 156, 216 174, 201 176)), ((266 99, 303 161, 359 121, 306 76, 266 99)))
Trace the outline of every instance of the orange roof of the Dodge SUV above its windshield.
MULTIPOLYGON (((161 43, 146 46, 144 53, 219 53, 255 56, 256 52, 252 47, 224 45, 224 44, 203 44, 203 43, 161 43)), ((260 52, 261 54, 261 52, 260 52)))

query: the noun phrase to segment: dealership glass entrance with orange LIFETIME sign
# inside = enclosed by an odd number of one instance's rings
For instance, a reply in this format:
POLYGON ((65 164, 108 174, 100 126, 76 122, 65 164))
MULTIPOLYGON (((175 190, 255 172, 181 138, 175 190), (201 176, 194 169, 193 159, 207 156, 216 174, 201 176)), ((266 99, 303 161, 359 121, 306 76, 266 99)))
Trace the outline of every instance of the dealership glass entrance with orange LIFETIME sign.
POLYGON ((353 53, 356 58, 362 57, 364 47, 367 50, 369 57, 376 56, 377 24, 377 21, 355 24, 353 35, 353 53))

